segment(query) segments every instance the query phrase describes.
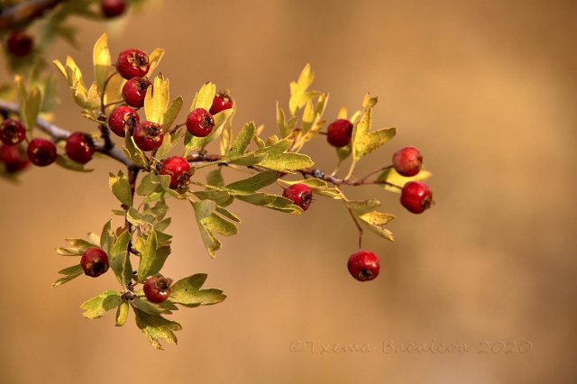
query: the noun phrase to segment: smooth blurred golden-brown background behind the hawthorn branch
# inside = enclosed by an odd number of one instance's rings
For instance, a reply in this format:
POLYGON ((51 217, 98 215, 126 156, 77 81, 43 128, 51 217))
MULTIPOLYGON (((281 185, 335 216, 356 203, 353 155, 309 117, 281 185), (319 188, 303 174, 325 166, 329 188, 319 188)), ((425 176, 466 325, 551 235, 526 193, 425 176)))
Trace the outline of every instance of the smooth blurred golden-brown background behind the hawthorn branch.
MULTIPOLYGON (((416 145, 434 172, 436 206, 417 216, 378 187, 350 192, 398 215, 395 244, 366 236, 382 269, 361 284, 346 270, 356 234, 338 202, 318 198, 294 217, 235 204, 240 234, 224 239, 217 260, 190 206, 171 202, 166 273, 206 272, 207 287, 229 297, 179 311, 179 346, 157 352, 132 315, 124 328, 113 314, 80 315, 82 301, 115 287, 111 274, 50 289, 69 264, 54 248, 99 231, 117 206, 107 187, 117 165, 96 160, 90 175, 32 169, 20 187, 0 184, 0 381, 577 382, 575 16, 573 1, 174 0, 107 26, 77 21, 83 49, 57 45, 50 58, 71 52, 88 70, 103 31, 113 52, 164 47, 172 95, 188 104, 208 79, 230 88, 237 129, 255 119, 272 133, 275 101, 287 104, 307 62, 315 87, 331 93, 328 119, 371 91, 374 128, 399 130, 359 173, 416 145), (391 340, 472 350, 387 353, 391 340), (479 353, 526 341, 527 353, 479 353), (322 353, 337 343, 371 351, 322 353)), ((57 122, 93 129, 60 86, 57 122)), ((322 139, 307 151, 320 168, 334 163, 322 139)))

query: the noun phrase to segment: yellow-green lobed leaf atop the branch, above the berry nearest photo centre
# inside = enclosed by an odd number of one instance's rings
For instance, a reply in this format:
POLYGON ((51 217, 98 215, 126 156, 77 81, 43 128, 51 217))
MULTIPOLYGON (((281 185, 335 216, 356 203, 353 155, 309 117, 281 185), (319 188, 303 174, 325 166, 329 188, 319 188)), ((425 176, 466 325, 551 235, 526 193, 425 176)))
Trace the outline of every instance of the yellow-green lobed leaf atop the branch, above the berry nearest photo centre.
POLYGON ((280 172, 305 169, 315 165, 307 155, 287 152, 291 143, 291 140, 283 139, 274 145, 257 150, 256 154, 265 155, 264 159, 258 162, 258 165, 280 172))

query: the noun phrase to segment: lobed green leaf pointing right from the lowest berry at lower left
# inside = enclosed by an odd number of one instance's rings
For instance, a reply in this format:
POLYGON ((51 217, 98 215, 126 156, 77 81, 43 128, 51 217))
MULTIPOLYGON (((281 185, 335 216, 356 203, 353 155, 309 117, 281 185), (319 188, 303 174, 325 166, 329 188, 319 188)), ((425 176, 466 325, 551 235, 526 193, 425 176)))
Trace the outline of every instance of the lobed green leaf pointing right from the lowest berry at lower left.
POLYGON ((222 302, 226 295, 220 289, 200 289, 206 281, 206 274, 198 273, 180 279, 172 285, 169 300, 181 306, 210 306, 222 302))

